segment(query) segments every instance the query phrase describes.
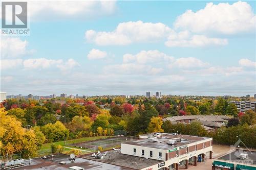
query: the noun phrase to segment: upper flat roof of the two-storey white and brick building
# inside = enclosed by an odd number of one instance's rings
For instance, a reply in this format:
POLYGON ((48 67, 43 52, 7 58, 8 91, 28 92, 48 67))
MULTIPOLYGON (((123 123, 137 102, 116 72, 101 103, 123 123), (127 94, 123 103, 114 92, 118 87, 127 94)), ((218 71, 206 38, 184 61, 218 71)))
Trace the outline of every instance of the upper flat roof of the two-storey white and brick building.
MULTIPOLYGON (((157 134, 161 134, 161 137, 158 137, 158 141, 156 141, 156 142, 148 142, 147 139, 139 139, 139 140, 123 142, 123 143, 138 145, 141 147, 170 150, 173 148, 181 147, 188 143, 194 143, 196 141, 208 139, 207 137, 198 137, 198 136, 180 135, 180 134, 179 135, 169 134, 169 133, 157 133, 157 134), (181 141, 177 142, 174 145, 167 144, 168 140, 174 139, 174 138, 180 138, 181 141)), ((153 136, 153 134, 144 134, 144 135, 140 135, 140 136, 151 137, 151 136, 153 136)))

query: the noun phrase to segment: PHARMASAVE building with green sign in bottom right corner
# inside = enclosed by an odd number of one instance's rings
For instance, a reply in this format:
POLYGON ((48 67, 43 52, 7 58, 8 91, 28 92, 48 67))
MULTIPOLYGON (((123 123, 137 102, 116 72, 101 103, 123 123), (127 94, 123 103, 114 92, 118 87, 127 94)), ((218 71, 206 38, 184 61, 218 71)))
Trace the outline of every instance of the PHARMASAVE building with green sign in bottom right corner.
POLYGON ((212 160, 212 170, 256 170, 256 151, 230 150, 212 160))

